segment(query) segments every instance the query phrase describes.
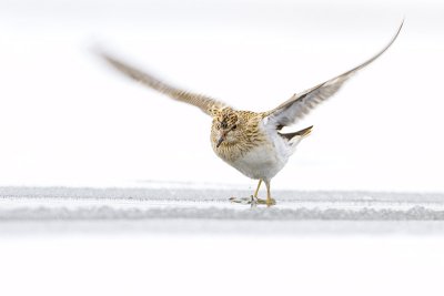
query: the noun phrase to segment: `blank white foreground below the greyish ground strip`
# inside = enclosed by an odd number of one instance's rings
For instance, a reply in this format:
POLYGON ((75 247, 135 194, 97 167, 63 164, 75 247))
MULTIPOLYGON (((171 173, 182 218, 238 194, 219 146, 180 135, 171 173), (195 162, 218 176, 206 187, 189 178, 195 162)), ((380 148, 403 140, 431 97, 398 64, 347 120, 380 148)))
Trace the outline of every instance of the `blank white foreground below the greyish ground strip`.
POLYGON ((436 237, 44 238, 0 241, 3 295, 442 295, 436 237))

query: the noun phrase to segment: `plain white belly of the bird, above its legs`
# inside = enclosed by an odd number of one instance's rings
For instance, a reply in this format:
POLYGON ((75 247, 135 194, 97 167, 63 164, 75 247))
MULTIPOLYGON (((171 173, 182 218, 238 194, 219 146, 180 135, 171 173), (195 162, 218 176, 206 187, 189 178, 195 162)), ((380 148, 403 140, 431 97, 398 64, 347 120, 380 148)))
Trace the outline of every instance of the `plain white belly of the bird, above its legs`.
POLYGON ((261 145, 246 152, 231 163, 233 167, 251 178, 271 180, 284 167, 286 153, 278 153, 273 145, 261 145))

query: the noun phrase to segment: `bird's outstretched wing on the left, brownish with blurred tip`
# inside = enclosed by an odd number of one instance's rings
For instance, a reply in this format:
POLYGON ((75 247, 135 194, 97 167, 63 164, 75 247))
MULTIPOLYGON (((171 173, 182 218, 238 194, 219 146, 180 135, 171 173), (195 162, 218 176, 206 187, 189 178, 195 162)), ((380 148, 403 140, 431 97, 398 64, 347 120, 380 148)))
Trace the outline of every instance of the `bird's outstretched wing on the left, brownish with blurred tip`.
POLYGON ((129 65, 104 52, 100 52, 100 55, 103 57, 103 59, 105 59, 117 70, 127 74, 133 80, 143 83, 144 85, 150 86, 153 90, 164 93, 174 100, 195 105, 209 115, 211 115, 212 109, 222 109, 226 106, 226 104, 218 100, 214 100, 210 96, 183 91, 170 84, 167 84, 158 80, 157 78, 152 76, 151 74, 138 70, 134 67, 129 65))

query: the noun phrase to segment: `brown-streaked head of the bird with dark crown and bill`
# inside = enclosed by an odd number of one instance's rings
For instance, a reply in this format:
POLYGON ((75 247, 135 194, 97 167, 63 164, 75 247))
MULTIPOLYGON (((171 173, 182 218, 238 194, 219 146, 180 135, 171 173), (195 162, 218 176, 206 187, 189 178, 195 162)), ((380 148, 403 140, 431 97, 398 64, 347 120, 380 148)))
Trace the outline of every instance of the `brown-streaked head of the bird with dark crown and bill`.
POLYGON ((213 125, 212 125, 212 137, 215 147, 219 147, 222 143, 233 144, 239 137, 239 127, 241 125, 240 119, 236 112, 230 108, 213 110, 213 125))

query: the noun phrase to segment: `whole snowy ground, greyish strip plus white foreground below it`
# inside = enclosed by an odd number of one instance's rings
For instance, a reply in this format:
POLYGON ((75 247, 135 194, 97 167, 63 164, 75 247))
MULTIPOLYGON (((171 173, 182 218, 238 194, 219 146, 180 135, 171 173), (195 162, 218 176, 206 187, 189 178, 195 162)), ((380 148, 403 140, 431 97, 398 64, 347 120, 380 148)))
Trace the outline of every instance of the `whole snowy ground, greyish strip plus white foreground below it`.
POLYGON ((0 187, 0 295, 442 295, 444 195, 0 187))

